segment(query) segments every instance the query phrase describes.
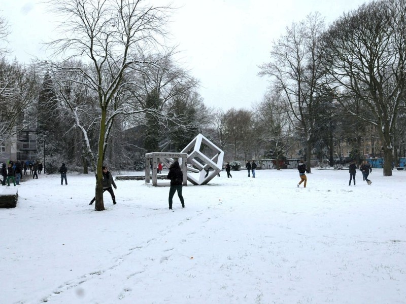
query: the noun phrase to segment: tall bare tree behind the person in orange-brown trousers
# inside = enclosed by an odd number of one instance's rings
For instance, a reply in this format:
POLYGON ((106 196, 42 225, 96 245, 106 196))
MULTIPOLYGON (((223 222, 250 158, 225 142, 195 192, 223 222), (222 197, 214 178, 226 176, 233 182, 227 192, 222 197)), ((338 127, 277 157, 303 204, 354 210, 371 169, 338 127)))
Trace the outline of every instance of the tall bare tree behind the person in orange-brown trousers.
POLYGON ((274 86, 283 93, 290 108, 290 119, 304 135, 307 144, 309 172, 314 140, 317 95, 323 80, 321 65, 323 50, 319 36, 324 30, 324 20, 319 13, 293 23, 286 34, 274 42, 272 61, 261 65, 259 75, 272 78, 274 86))

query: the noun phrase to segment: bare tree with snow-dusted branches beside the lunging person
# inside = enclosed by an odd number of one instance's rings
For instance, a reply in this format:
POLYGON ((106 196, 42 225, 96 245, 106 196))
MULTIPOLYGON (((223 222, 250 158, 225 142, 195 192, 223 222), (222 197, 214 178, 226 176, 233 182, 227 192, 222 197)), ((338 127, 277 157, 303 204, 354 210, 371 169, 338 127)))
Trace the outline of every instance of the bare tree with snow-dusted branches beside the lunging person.
MULTIPOLYGON (((79 82, 95 93, 98 103, 98 145, 93 153, 87 137, 86 126, 80 114, 86 111, 72 103, 71 96, 60 91, 60 97, 70 107, 76 125, 82 130, 88 154, 96 176, 96 210, 104 210, 103 172, 110 131, 119 115, 129 115, 145 110, 129 110, 128 87, 134 80, 130 74, 143 71, 146 66, 161 65, 160 59, 145 61, 147 53, 161 48, 160 37, 166 34, 168 7, 148 6, 144 0, 88 1, 50 0, 53 11, 64 16, 62 38, 50 43, 58 56, 69 60, 80 58, 89 67, 66 68, 57 62, 48 62, 48 68, 59 82, 79 82)), ((58 85, 58 84, 57 84, 58 85)), ((147 109, 148 110, 148 109, 147 109)), ((155 110, 152 110, 155 112, 155 110)))

